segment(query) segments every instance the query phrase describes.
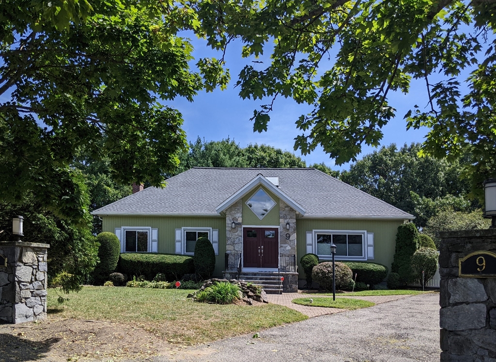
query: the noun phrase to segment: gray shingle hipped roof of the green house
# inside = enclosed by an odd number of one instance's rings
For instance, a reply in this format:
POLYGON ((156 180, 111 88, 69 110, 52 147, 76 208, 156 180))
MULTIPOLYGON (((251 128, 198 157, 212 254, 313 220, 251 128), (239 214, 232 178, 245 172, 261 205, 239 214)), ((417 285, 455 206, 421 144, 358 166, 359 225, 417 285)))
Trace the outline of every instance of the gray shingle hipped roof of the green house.
POLYGON ((95 215, 212 215, 215 208, 256 175, 279 177, 279 189, 300 204, 304 217, 397 218, 412 215, 314 168, 194 167, 95 210, 95 215))

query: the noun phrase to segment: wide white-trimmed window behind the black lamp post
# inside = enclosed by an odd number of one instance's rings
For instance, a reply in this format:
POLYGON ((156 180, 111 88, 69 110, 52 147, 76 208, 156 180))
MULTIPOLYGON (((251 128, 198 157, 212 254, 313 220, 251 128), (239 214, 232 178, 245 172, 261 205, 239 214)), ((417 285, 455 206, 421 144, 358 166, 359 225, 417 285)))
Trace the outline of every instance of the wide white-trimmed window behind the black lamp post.
POLYGON ((332 258, 331 244, 334 243, 337 259, 367 260, 367 231, 365 230, 313 230, 313 240, 313 250, 319 258, 332 258))

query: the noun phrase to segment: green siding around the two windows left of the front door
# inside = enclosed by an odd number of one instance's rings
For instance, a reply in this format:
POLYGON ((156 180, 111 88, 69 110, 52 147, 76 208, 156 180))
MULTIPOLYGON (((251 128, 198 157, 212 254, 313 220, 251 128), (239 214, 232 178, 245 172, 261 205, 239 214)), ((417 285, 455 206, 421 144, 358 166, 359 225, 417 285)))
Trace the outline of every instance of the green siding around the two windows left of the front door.
POLYGON ((226 253, 226 218, 225 217, 139 217, 139 216, 104 216, 103 231, 115 232, 116 227, 150 226, 158 228, 158 252, 174 254, 175 230, 181 227, 211 227, 219 229, 219 255, 215 260, 215 276, 222 276, 224 271, 224 254, 226 253))

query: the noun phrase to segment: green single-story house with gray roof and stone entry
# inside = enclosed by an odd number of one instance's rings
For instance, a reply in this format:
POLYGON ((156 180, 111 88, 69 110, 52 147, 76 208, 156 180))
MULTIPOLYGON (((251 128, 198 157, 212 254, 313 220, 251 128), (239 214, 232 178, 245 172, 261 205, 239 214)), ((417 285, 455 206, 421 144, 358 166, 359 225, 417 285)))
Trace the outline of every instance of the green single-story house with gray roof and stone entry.
POLYGON ((314 168, 194 167, 163 189, 146 188, 92 214, 118 236, 123 253, 193 255, 196 239, 206 236, 216 276, 236 278, 239 266, 244 278, 265 284, 284 276, 284 291, 305 279, 298 268, 304 254, 331 259, 331 242, 338 261, 390 267, 396 229, 414 218, 314 168))

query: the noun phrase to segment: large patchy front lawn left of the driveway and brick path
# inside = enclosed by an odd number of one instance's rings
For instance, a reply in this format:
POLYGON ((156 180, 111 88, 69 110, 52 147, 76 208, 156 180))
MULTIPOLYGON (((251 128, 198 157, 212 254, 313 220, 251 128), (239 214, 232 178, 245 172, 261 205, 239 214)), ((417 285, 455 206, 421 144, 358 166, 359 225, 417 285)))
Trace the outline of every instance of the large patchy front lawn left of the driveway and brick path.
POLYGON ((299 322, 308 316, 277 304, 218 305, 193 302, 191 290, 84 287, 57 302, 48 291, 54 318, 110 320, 159 334, 171 343, 192 345, 299 322))

